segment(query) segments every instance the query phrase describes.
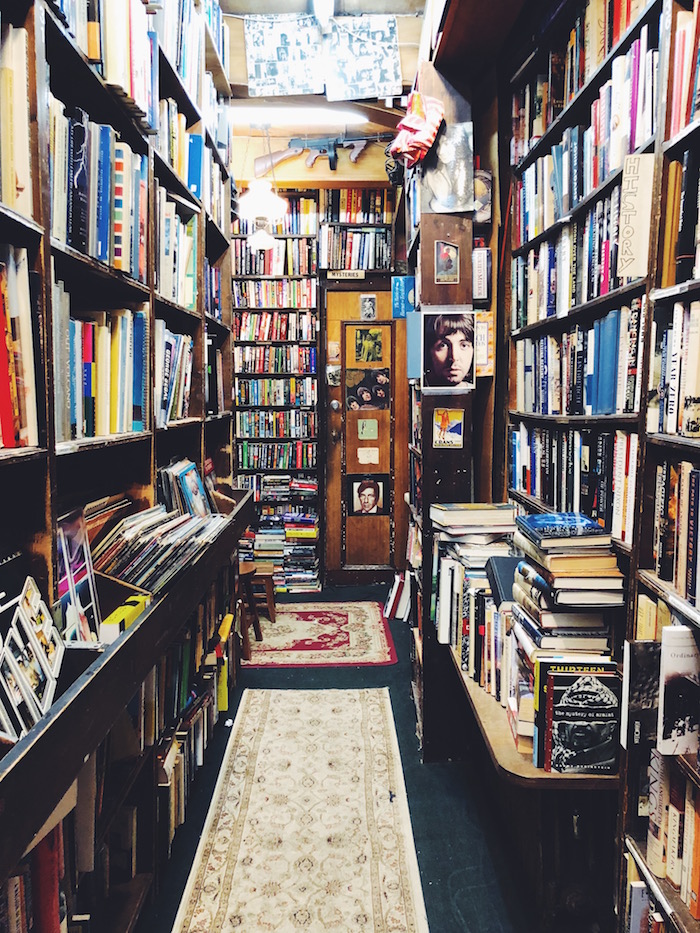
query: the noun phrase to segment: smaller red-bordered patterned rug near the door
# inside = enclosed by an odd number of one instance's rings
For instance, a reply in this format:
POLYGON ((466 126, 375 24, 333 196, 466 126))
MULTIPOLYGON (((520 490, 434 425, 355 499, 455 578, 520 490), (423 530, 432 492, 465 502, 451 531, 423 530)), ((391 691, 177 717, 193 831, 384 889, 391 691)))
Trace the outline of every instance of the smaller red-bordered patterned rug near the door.
POLYGON ((395 664, 396 649, 380 603, 278 604, 277 621, 260 619, 243 667, 359 667, 395 664))

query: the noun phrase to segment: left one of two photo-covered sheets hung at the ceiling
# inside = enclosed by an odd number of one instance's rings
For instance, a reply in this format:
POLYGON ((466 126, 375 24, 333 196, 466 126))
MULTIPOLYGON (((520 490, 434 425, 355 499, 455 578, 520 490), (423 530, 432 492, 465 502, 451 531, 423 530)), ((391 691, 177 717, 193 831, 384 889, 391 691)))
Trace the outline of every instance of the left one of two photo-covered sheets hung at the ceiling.
POLYGON ((248 94, 322 94, 321 30, 305 14, 244 17, 248 94))

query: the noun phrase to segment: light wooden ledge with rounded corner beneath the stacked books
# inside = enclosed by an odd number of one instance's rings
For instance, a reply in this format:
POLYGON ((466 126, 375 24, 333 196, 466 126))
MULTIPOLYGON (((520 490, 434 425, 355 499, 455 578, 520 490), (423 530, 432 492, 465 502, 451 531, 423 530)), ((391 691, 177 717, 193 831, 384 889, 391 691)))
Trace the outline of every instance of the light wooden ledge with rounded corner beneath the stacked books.
POLYGON ((505 709, 462 671, 457 652, 450 655, 496 771, 511 783, 533 790, 610 790, 617 775, 557 774, 536 768, 515 747, 505 709))

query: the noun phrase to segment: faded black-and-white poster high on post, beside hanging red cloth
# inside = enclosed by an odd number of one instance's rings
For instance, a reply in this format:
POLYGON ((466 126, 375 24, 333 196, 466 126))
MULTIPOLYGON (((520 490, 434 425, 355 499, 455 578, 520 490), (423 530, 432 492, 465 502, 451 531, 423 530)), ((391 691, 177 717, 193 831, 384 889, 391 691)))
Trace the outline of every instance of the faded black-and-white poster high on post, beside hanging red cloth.
POLYGON ((474 210, 474 127, 443 124, 423 161, 421 210, 460 214, 474 210))

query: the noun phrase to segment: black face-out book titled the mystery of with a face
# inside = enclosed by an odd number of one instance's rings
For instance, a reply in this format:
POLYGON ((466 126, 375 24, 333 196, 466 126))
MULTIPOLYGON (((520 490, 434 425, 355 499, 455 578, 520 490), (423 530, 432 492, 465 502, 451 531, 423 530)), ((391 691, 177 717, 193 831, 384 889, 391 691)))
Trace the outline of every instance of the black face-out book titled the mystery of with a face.
POLYGON ((545 771, 615 774, 619 726, 616 673, 547 674, 545 771))

